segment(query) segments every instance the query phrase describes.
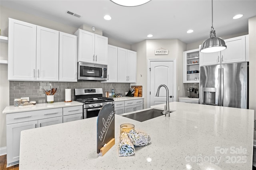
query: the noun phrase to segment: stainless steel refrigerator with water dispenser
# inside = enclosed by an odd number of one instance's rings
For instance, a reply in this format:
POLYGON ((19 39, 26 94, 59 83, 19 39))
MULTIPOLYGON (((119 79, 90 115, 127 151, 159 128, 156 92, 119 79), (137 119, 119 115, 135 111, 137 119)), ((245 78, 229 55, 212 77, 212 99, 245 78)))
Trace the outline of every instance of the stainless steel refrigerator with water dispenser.
POLYGON ((200 67, 200 104, 248 109, 248 62, 200 67))

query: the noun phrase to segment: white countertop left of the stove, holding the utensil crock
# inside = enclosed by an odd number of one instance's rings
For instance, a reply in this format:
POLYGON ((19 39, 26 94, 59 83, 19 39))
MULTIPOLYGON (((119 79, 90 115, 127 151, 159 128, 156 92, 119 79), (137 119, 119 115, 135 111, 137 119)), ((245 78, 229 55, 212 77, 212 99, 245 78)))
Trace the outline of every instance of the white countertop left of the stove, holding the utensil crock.
POLYGON ((14 107, 6 106, 3 110, 3 113, 17 113, 23 111, 35 111, 35 110, 43 110, 43 109, 54 109, 59 107, 70 107, 70 106, 82 106, 83 104, 80 102, 72 101, 72 102, 54 102, 54 103, 41 103, 35 104, 34 106, 25 106, 25 107, 14 107))

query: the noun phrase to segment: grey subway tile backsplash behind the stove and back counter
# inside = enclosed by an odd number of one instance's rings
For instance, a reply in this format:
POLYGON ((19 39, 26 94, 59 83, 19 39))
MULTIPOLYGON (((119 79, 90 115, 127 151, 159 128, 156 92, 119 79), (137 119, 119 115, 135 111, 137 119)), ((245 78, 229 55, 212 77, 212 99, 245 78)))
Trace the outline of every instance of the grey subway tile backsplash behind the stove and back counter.
POLYGON ((130 83, 101 83, 96 81, 79 81, 79 82, 28 82, 28 81, 10 81, 10 105, 13 105, 15 98, 29 97, 36 103, 45 103, 46 94, 42 90, 50 90, 57 88, 54 94, 54 102, 65 101, 65 89, 71 88, 71 100, 74 100, 74 88, 103 88, 103 96, 105 92, 111 93, 112 88, 115 94, 122 94, 130 89, 130 83))

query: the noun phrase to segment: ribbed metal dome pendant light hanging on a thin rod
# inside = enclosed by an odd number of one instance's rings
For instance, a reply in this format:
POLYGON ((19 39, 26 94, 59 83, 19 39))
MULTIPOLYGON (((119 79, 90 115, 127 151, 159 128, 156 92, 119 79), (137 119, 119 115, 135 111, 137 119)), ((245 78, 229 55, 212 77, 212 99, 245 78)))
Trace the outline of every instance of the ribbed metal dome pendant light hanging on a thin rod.
MULTIPOLYGON (((213 4, 213 0, 212 0, 213 4)), ((213 8, 212 8, 212 27, 210 31, 210 37, 206 39, 201 46, 201 53, 214 53, 226 49, 225 41, 219 37, 216 37, 215 30, 213 28, 213 8)))

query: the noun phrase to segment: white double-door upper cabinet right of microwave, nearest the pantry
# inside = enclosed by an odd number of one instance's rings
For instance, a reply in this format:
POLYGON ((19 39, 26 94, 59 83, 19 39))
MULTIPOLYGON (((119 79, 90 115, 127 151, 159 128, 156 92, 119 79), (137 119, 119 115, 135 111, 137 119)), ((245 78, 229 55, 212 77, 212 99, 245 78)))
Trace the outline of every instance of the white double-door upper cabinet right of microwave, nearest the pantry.
POLYGON ((135 83, 137 52, 118 47, 118 82, 135 83))

